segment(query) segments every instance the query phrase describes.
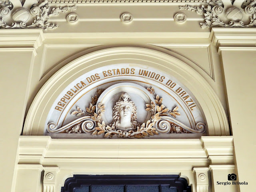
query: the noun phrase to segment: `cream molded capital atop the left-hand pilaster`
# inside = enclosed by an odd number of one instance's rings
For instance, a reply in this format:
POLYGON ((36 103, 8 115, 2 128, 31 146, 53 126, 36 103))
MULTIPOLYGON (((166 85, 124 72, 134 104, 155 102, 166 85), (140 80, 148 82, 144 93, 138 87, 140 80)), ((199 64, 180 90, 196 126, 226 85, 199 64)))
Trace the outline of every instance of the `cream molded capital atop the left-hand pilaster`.
POLYGON ((4 29, 0 30, 0 46, 2 48, 34 48, 44 41, 42 29, 4 29))

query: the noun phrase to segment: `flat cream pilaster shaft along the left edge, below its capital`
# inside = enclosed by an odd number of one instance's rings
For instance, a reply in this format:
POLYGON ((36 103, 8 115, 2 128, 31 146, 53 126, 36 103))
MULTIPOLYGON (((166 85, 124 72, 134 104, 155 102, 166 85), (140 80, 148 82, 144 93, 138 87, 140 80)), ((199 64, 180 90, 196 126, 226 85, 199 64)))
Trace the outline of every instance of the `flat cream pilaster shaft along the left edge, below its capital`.
POLYGON ((12 187, 12 178, 16 177, 18 139, 22 132, 28 101, 34 48, 0 48, 0 57, 2 58, 0 82, 3 90, 0 186, 4 186, 5 192, 9 192, 12 187))

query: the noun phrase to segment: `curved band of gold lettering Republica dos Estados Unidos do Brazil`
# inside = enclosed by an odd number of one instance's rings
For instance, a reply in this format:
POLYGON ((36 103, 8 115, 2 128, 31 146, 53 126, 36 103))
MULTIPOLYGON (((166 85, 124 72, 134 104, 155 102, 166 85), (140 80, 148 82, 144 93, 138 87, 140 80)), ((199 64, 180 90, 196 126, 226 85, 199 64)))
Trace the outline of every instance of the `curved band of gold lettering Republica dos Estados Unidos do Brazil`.
POLYGON ((154 71, 150 70, 144 70, 144 69, 135 69, 135 68, 114 68, 110 70, 105 70, 102 72, 98 72, 96 74, 90 75, 86 77, 84 80, 80 82, 74 83, 72 88, 66 92, 62 96, 62 98, 58 101, 55 110, 62 111, 65 106, 68 104, 68 102, 83 88, 86 86, 92 84, 93 82, 96 82, 98 80, 113 77, 113 76, 141 76, 144 78, 150 78, 152 80, 155 80, 157 82, 160 82, 167 86, 168 88, 172 89, 188 106, 188 108, 193 111, 193 108, 196 107, 196 104, 192 100, 192 98, 188 95, 188 93, 178 86, 176 82, 173 80, 170 80, 163 76, 162 74, 158 74, 154 71))

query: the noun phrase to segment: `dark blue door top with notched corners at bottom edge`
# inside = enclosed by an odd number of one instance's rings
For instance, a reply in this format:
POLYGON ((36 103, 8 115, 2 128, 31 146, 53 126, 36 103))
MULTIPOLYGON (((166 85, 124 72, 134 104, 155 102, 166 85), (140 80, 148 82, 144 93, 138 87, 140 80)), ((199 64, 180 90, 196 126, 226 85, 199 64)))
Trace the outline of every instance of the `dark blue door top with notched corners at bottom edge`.
POLYGON ((125 189, 126 192, 192 191, 187 180, 178 175, 74 175, 65 181, 61 192, 124 192, 125 189))

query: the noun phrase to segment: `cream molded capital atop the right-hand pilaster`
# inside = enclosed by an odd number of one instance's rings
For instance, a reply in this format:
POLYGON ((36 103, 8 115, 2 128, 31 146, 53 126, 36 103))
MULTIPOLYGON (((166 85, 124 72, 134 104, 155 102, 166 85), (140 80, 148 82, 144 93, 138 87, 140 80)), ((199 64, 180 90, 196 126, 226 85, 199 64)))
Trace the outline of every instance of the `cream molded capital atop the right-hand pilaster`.
POLYGON ((256 50, 256 28, 212 28, 210 40, 222 50, 256 50))

